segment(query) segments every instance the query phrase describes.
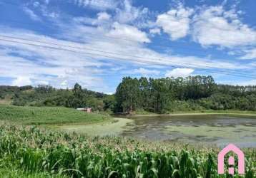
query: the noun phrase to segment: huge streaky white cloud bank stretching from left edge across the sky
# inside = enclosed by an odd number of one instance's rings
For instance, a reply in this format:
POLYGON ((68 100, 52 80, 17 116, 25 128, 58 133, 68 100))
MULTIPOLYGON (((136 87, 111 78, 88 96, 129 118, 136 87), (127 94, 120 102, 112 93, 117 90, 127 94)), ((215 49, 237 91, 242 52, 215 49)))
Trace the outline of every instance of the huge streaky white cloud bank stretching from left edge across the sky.
POLYGON ((127 63, 136 66, 137 73, 142 75, 149 72, 154 75, 158 74, 157 70, 148 71, 147 68, 161 68, 168 65, 182 68, 180 63, 187 68, 194 66, 202 66, 202 68, 214 66, 214 68, 232 70, 250 68, 250 66, 230 63, 222 59, 212 61, 196 56, 158 53, 142 43, 150 42, 147 33, 132 24, 112 23, 112 19, 109 20, 109 24, 100 23, 97 26, 90 25, 97 19, 69 19, 68 22, 62 23, 59 21, 56 24, 61 23, 59 26, 61 31, 55 38, 32 31, 0 26, 0 35, 44 41, 48 43, 43 44, 44 46, 56 48, 21 44, 25 42, 41 45, 41 43, 31 41, 6 42, 0 37, 2 39, 0 40, 2 47, 0 48, 0 75, 7 78, 28 76, 33 84, 43 80, 59 88, 71 88, 74 83, 79 82, 85 88, 109 92, 102 75, 111 73, 109 67, 117 68, 123 65, 126 68, 122 70, 125 70, 128 68, 127 63), (84 21, 87 21, 89 25, 84 25, 84 21), (59 47, 51 43, 64 46, 59 47), (65 51, 57 50, 61 48, 65 51))

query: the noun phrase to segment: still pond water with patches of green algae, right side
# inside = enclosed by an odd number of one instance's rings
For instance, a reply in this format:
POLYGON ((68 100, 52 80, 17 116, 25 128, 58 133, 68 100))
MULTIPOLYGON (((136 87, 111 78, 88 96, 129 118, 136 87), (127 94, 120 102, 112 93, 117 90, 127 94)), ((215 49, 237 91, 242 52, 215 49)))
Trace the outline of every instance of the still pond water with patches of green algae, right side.
POLYGON ((142 140, 169 140, 256 147, 256 117, 237 115, 165 115, 128 117, 122 135, 142 140))

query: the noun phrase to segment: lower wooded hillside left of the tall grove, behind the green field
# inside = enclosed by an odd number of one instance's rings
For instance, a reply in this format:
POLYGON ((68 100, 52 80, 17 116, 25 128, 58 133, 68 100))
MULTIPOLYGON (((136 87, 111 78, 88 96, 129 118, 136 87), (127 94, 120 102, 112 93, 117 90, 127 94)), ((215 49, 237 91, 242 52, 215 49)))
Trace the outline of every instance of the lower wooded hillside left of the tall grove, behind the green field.
POLYGON ((90 107, 94 111, 108 110, 104 107, 104 101, 114 98, 114 95, 105 95, 104 93, 82 89, 78 83, 71 90, 56 89, 49 85, 39 85, 35 88, 32 86, 0 86, 0 99, 4 99, 8 95, 11 96, 12 104, 18 106, 90 107))

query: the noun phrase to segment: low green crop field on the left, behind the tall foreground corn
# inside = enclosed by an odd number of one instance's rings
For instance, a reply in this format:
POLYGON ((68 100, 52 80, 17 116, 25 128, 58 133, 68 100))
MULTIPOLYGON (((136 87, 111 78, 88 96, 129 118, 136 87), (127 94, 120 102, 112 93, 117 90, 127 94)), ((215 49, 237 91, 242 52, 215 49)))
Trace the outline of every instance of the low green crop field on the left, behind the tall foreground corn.
POLYGON ((111 119, 109 115, 87 113, 71 108, 0 105, 0 120, 24 125, 94 123, 111 119))

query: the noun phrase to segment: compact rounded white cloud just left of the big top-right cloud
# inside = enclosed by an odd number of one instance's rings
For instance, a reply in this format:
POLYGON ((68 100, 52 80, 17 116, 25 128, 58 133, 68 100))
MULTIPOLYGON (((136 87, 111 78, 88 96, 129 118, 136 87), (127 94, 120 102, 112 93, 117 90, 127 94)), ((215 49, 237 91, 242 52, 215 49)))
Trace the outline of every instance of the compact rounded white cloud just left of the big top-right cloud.
POLYGON ((174 41, 189 33, 189 16, 192 13, 192 9, 184 8, 182 4, 179 4, 177 9, 171 9, 167 13, 157 16, 156 24, 174 41))

